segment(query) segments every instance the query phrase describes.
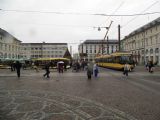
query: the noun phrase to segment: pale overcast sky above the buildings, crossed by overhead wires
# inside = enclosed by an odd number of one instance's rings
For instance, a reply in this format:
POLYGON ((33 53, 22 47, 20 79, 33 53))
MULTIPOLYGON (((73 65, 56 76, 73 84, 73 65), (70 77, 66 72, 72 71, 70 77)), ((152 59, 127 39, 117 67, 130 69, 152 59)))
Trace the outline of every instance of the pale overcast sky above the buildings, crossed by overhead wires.
POLYGON ((108 36, 117 39, 118 24, 122 26, 121 38, 123 38, 133 30, 160 17, 160 14, 137 17, 87 14, 160 12, 160 0, 0 0, 0 9, 2 9, 0 28, 10 32, 22 42, 67 42, 73 46, 73 52, 77 52, 81 40, 104 38, 106 30, 98 31, 94 27, 109 26, 112 20, 108 36), (65 13, 81 13, 81 15, 65 13))

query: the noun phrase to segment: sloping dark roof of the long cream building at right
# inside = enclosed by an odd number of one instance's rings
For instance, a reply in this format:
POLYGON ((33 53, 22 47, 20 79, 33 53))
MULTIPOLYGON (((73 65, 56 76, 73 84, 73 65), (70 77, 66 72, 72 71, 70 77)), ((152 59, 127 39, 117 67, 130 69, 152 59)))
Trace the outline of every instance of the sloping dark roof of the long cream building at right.
POLYGON ((131 36, 134 36, 140 32, 143 32, 144 30, 147 30, 155 25, 159 25, 160 24, 160 17, 158 17, 157 19, 153 20, 152 22, 149 22, 148 24, 134 30, 133 32, 131 32, 129 35, 125 36, 124 39, 129 38, 131 36))

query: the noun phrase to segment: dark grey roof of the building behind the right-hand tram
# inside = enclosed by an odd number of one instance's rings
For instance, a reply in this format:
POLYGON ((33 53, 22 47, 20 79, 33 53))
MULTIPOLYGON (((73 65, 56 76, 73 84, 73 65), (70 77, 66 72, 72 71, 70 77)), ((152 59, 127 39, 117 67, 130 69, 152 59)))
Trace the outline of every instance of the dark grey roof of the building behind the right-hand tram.
MULTIPOLYGON (((83 44, 102 44, 102 42, 107 44, 107 40, 103 39, 94 39, 94 40, 85 40, 83 44)), ((118 40, 116 39, 109 39, 109 44, 118 44, 118 40)))

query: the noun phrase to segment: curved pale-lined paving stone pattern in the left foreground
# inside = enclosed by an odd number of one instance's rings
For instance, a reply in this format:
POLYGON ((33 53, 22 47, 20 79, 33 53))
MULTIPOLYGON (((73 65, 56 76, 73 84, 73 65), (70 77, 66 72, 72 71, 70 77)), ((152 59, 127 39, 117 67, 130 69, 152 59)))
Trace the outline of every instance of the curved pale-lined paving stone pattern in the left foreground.
POLYGON ((119 110, 58 92, 4 90, 0 120, 136 120, 119 110))

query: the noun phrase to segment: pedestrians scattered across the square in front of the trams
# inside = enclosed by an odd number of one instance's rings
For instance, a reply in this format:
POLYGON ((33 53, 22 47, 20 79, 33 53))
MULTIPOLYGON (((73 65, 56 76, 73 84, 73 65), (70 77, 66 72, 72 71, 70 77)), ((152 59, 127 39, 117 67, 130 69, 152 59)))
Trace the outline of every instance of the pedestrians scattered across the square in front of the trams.
MULTIPOLYGON (((87 73, 87 77, 88 79, 92 78, 92 75, 94 77, 98 77, 98 73, 99 73, 99 68, 97 66, 96 63, 93 62, 87 62, 87 61, 74 61, 73 63, 65 63, 63 61, 59 61, 56 63, 57 65, 57 71, 59 73, 63 73, 64 71, 67 71, 67 65, 70 66, 70 68, 72 69, 72 72, 79 72, 79 71, 86 71, 87 73)), ((55 66, 55 63, 53 64, 52 62, 46 62, 44 65, 44 69, 45 69, 45 73, 43 74, 44 77, 50 78, 50 67, 51 66, 55 66)), ((39 64, 36 62, 32 63, 32 67, 34 69, 36 69, 37 72, 39 72, 39 64)), ((153 73, 153 61, 148 61, 145 65, 146 70, 148 70, 150 73, 153 73)), ((20 77, 20 69, 26 69, 26 64, 23 63, 21 64, 19 61, 14 61, 11 63, 11 71, 17 71, 17 76, 18 78, 20 77)), ((124 64, 124 70, 123 70, 123 74, 125 76, 128 76, 128 72, 131 71, 130 65, 126 62, 124 64)))

